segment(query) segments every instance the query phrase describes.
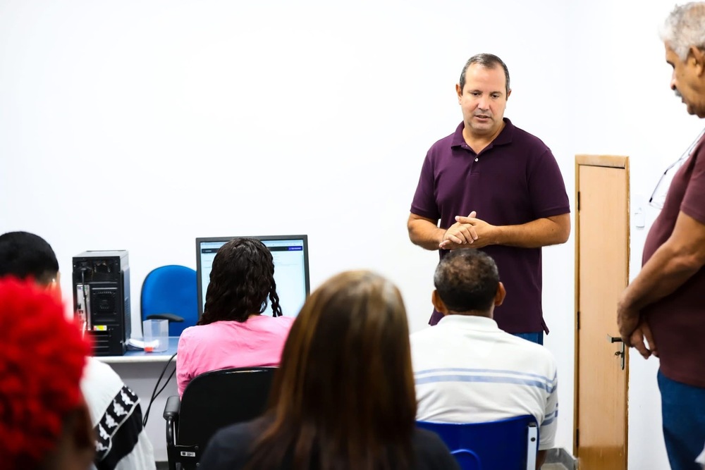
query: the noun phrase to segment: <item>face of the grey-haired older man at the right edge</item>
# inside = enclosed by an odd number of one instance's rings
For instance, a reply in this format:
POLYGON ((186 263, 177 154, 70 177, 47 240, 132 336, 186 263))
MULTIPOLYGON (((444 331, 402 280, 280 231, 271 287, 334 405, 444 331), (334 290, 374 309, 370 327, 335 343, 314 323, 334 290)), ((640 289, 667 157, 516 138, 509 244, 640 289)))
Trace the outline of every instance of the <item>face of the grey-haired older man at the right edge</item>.
POLYGON ((681 61, 678 54, 666 44, 666 62, 673 67, 670 78, 670 89, 680 97, 687 107, 689 114, 705 118, 705 97, 700 91, 703 76, 702 56, 699 51, 691 51, 685 61, 681 61), (697 57, 696 55, 700 55, 697 57))

